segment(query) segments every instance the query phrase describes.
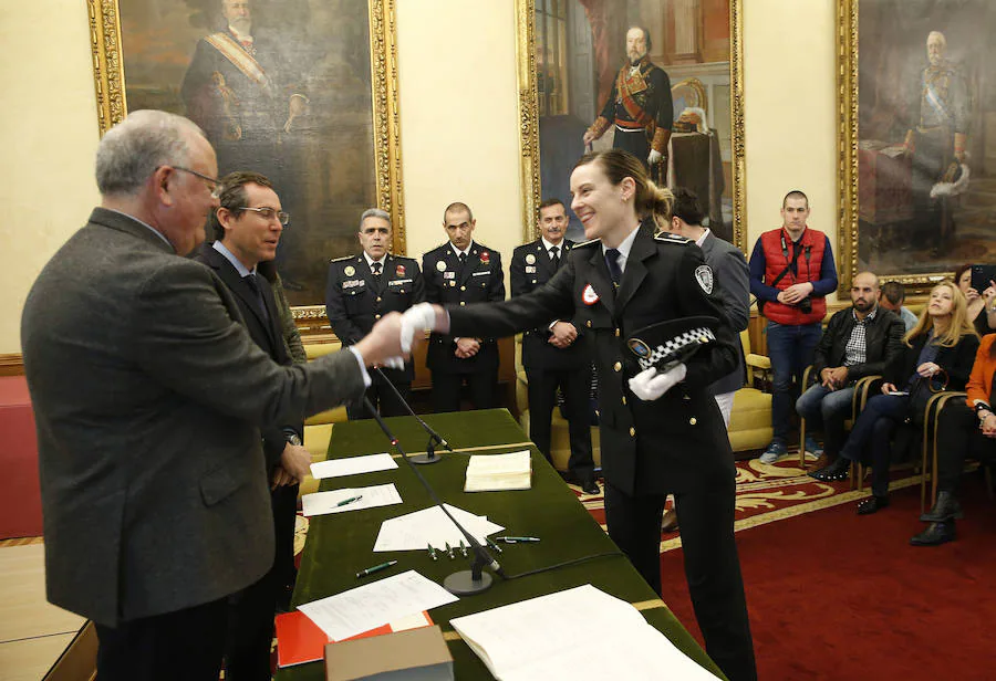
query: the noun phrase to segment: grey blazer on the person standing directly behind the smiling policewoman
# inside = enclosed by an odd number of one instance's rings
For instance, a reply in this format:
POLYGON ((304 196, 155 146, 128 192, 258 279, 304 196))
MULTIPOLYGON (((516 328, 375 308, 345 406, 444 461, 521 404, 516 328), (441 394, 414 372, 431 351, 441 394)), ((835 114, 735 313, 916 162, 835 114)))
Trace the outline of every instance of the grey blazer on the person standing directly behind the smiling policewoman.
POLYGON ((740 332, 747 328, 747 323, 750 322, 749 270, 740 249, 728 241, 723 241, 712 232, 702 242, 702 253, 706 264, 713 269, 723 311, 726 312, 729 325, 736 332, 737 368, 709 386, 712 395, 723 395, 740 389, 746 380, 740 332))

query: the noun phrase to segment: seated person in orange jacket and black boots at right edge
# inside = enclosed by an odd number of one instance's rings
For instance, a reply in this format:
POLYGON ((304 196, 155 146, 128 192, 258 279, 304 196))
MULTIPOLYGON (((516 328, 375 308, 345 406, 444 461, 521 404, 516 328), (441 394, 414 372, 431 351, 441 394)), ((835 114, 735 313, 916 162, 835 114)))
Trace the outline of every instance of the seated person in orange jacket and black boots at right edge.
POLYGON ((964 517, 958 482, 965 458, 996 459, 996 413, 993 375, 996 374, 996 334, 983 338, 968 378, 966 404, 948 404, 937 427, 937 501, 920 520, 931 523, 910 539, 914 546, 936 546, 955 538, 955 518, 964 517))

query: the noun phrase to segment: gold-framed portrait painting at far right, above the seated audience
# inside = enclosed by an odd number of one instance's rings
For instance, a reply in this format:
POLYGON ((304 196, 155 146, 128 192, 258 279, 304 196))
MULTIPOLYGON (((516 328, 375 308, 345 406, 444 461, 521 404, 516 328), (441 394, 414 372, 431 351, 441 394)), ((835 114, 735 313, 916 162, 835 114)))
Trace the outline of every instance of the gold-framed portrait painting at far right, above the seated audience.
POLYGON ((842 287, 996 262, 996 6, 841 3, 842 287))

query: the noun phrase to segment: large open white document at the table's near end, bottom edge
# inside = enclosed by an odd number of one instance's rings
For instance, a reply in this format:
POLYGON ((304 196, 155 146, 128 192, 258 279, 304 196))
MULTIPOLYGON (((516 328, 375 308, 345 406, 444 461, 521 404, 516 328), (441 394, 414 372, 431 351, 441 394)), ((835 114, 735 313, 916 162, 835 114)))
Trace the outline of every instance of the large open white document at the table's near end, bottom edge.
POLYGON ((636 608, 590 584, 449 624, 499 681, 715 680, 636 608))

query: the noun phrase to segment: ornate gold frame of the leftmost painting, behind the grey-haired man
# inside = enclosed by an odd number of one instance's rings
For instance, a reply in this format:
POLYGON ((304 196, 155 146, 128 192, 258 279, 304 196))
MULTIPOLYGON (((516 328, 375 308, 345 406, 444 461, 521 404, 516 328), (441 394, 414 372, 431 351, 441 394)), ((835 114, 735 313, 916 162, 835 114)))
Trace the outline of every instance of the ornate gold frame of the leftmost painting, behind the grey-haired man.
MULTIPOLYGON (((401 159, 401 113, 397 96, 396 0, 369 0, 370 65, 373 95, 374 155, 377 174, 377 207, 392 216, 392 249, 405 254, 404 191, 401 159)), ((124 60, 121 54, 118 0, 86 0, 93 53, 93 80, 101 135, 120 123, 127 112, 124 60)), ((324 324, 324 305, 294 308, 294 318, 307 325, 324 324)))

